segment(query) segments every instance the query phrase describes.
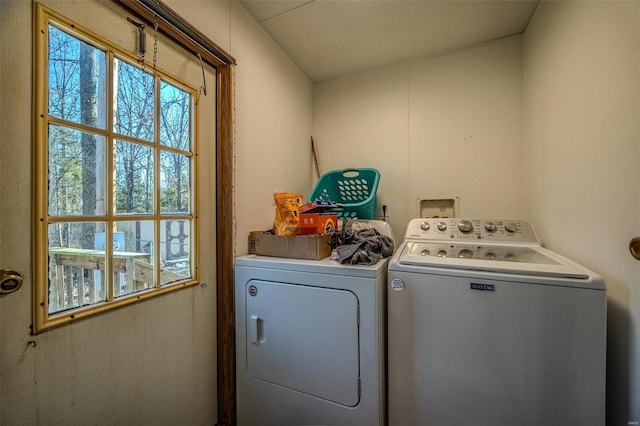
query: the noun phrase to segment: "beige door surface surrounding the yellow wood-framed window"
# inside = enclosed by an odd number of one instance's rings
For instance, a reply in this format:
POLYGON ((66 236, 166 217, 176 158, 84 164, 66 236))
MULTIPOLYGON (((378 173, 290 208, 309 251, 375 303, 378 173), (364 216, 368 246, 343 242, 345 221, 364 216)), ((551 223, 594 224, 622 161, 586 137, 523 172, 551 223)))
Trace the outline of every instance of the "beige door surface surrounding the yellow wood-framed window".
MULTIPOLYGON (((134 51, 133 17, 116 2, 44 1, 111 43, 134 51), (96 18, 99 17, 99 18, 96 18)), ((25 282, 0 296, 1 424, 205 424, 216 406, 216 74, 158 35, 157 66, 200 97, 202 194, 198 234, 206 253, 195 286, 31 335, 31 1, 0 2, 0 268, 25 282)), ((134 18, 135 19, 135 18, 134 18)), ((154 51, 147 24, 147 59, 154 51)))

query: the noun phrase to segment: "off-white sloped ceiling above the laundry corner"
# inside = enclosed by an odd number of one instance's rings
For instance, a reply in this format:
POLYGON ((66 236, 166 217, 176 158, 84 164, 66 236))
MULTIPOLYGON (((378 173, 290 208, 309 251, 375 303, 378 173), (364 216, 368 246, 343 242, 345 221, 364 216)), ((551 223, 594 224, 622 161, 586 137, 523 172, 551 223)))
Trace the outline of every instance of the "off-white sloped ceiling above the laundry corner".
POLYGON ((314 82, 522 33, 538 0, 240 0, 314 82))

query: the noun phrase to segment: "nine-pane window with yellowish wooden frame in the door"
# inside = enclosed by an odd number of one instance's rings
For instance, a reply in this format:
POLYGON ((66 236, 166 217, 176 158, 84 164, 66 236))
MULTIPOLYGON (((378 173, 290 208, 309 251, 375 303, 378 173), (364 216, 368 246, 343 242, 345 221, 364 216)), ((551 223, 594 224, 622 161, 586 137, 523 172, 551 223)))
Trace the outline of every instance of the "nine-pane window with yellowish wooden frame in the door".
POLYGON ((35 329, 197 283, 197 90, 38 9, 35 329))

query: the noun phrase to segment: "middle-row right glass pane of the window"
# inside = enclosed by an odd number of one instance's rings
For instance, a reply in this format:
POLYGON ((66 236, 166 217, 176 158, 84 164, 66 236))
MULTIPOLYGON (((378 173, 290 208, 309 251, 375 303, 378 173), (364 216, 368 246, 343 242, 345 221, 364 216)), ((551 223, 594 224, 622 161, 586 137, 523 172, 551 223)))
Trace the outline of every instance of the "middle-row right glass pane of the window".
POLYGON ((160 211, 188 213, 191 202, 191 164, 186 155, 160 153, 160 211))

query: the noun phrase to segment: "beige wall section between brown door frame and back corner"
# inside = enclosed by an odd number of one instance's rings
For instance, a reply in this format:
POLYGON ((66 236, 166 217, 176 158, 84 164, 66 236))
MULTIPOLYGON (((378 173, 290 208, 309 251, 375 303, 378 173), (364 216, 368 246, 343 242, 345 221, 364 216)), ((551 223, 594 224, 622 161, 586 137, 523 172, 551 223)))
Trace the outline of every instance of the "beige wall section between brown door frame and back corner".
POLYGON ((273 227, 274 191, 310 191, 313 84, 239 2, 167 3, 238 61, 234 196, 243 255, 250 231, 273 227))

